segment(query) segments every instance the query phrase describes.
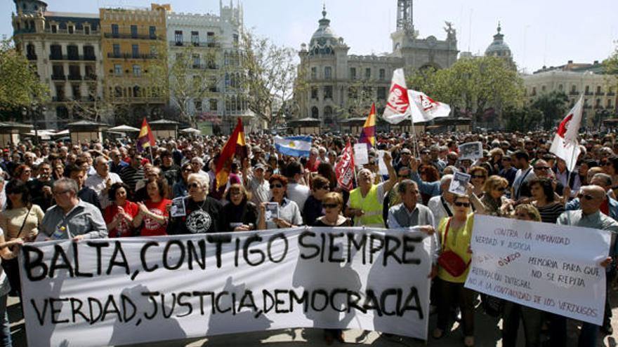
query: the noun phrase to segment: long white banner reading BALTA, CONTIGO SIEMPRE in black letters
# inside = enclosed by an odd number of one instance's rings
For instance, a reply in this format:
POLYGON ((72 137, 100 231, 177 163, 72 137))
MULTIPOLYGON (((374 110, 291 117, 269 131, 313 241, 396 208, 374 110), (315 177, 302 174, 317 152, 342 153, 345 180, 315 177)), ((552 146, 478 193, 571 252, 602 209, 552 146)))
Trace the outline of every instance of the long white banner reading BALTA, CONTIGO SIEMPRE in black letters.
POLYGON ((48 241, 20 252, 30 346, 291 327, 426 339, 432 238, 414 229, 48 241))

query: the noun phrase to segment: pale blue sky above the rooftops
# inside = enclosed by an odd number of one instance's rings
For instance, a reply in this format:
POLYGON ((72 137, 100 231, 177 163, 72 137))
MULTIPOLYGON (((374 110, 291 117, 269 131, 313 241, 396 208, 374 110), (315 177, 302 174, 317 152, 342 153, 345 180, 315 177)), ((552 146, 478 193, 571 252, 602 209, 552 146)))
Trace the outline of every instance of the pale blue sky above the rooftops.
MULTIPOLYGON (((233 0, 237 4, 238 0, 233 0)), ((49 11, 98 13, 99 7, 147 7, 150 0, 47 0, 49 11)), ((218 0, 173 0, 173 11, 219 12, 218 0)), ((229 4, 230 0, 224 0, 229 4)), ((244 0, 244 24, 275 43, 300 48, 308 43, 323 0, 244 0)), ((326 0, 331 29, 344 38, 350 54, 390 52, 396 0, 326 0)), ((11 36, 12 0, 0 0, 0 35, 11 36)), ((593 62, 618 44, 617 0, 416 0, 414 27, 419 36, 443 40, 445 21, 457 30, 460 51, 484 53, 500 21, 504 41, 520 69, 534 72, 567 60, 593 62)))

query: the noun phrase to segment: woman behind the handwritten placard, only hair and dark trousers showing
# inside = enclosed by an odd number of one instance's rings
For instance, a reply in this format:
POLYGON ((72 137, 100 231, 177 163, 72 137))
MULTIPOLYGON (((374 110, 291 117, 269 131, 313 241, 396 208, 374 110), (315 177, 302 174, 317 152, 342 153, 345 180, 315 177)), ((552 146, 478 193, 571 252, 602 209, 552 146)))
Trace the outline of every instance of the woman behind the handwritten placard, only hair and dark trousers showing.
MULTIPOLYGON (((522 221, 541 222, 539 210, 530 204, 517 205, 513 218, 522 221)), ((543 312, 508 300, 504 300, 502 306, 502 346, 517 346, 520 319, 524 323, 526 346, 541 346, 543 312)))

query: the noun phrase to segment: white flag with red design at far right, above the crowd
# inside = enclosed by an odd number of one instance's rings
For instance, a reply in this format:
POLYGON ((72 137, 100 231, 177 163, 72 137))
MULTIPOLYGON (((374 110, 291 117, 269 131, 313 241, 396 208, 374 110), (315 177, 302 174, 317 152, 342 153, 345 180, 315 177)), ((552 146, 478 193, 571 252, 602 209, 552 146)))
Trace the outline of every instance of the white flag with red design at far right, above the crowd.
POLYGON ((579 97, 575 106, 569 111, 567 116, 558 125, 551 142, 549 151, 567 163, 567 169, 572 171, 577 163, 579 156, 579 126, 581 125, 581 114, 584 111, 584 95, 579 97))

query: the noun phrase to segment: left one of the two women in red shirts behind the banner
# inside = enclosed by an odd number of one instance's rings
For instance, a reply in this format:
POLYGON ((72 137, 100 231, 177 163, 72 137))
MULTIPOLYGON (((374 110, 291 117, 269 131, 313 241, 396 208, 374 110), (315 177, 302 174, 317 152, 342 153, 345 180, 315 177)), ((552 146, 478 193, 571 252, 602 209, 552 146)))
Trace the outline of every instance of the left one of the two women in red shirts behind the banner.
POLYGON ((112 205, 103 210, 103 219, 107 224, 108 237, 121 238, 133 236, 133 218, 138 215, 138 204, 126 198, 129 186, 122 182, 114 183, 110 187, 110 201, 112 205))

